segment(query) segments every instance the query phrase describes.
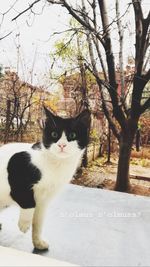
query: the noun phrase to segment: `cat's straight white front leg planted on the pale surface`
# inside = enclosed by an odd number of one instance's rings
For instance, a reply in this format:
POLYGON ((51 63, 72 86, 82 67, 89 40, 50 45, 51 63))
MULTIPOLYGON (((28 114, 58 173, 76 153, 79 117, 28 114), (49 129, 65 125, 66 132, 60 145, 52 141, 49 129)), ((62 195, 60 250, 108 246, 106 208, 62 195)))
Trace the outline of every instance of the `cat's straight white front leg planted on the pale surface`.
POLYGON ((32 222, 32 241, 34 247, 39 250, 47 250, 49 247, 48 243, 41 238, 46 207, 47 203, 42 202, 36 204, 32 222))

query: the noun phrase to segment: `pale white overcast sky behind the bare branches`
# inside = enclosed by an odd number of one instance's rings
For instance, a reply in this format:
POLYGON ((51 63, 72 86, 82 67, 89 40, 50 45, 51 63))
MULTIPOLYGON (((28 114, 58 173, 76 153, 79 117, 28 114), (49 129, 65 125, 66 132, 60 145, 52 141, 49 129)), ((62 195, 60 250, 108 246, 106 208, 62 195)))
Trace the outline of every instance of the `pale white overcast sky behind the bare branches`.
MULTIPOLYGON (((5 0, 1 1, 0 14, 6 12, 15 0, 5 0)), ((46 5, 42 11, 43 3, 41 2, 34 8, 34 11, 41 13, 33 18, 29 17, 29 14, 24 14, 17 19, 16 22, 12 22, 12 18, 17 14, 17 11, 24 10, 28 5, 29 1, 22 0, 17 1, 14 8, 8 12, 0 28, 0 37, 13 31, 11 35, 0 41, 0 64, 4 67, 10 67, 11 69, 17 69, 17 46, 19 47, 19 72, 25 80, 31 81, 30 71, 33 68, 34 73, 36 73, 36 78, 33 78, 33 82, 42 83, 42 77, 47 74, 50 69, 50 57, 49 52, 53 48, 53 44, 59 36, 51 37, 51 35, 56 31, 63 31, 67 29, 69 16, 65 8, 61 8, 58 5, 46 5), (29 26, 30 25, 30 26, 29 26), (51 38, 50 38, 51 37, 51 38), (34 63, 35 62, 35 63, 34 63)), ((32 1, 30 1, 32 2, 32 1)), ((75 0, 71 2, 76 2, 75 0)), ((145 4, 145 11, 149 9, 149 1, 143 1, 145 4)), ((121 12, 123 13, 125 7, 129 3, 128 0, 120 1, 121 12)), ((114 0, 107 0, 107 5, 112 8, 114 0)), ((113 11, 112 11, 113 15, 113 11)), ((133 13, 129 13, 131 22, 129 28, 132 28, 132 23, 134 23, 133 13)), ((1 16, 2 19, 2 16, 1 16)), ((111 16, 110 16, 111 21, 111 16)), ((129 29, 129 31, 133 31, 129 29)), ((114 41, 117 39, 114 34, 114 41)), ((126 47, 124 48, 127 53, 131 54, 131 43, 129 40, 126 41, 126 47)), ((117 49, 117 46, 116 46, 117 49)), ((116 54, 118 51, 114 51, 116 54)), ((126 56, 127 56, 126 53, 126 56)))

